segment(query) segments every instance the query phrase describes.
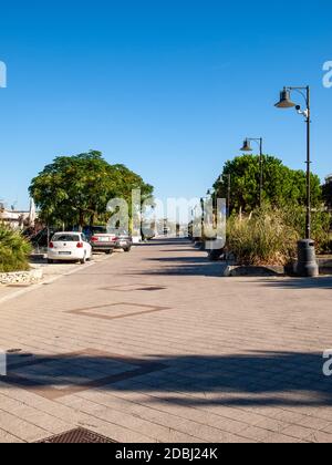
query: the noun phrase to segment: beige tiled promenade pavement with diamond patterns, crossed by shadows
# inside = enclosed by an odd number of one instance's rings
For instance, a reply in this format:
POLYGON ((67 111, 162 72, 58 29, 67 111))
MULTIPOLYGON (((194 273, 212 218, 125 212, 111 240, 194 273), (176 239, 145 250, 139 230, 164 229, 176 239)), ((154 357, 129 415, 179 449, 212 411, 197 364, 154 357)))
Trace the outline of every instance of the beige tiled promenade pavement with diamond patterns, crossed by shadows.
POLYGON ((332 279, 221 267, 153 241, 0 303, 0 442, 332 442, 332 279))

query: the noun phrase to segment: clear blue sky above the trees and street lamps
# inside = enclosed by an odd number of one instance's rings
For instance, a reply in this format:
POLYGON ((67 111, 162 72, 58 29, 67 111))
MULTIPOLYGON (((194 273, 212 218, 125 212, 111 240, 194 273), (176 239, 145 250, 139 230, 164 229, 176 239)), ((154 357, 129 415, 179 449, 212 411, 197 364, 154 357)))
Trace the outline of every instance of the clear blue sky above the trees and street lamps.
POLYGON ((159 197, 205 194, 245 136, 304 167, 305 127, 273 108, 312 86, 313 169, 332 172, 328 0, 59 0, 1 6, 0 198, 28 206, 56 155, 100 149, 159 197))

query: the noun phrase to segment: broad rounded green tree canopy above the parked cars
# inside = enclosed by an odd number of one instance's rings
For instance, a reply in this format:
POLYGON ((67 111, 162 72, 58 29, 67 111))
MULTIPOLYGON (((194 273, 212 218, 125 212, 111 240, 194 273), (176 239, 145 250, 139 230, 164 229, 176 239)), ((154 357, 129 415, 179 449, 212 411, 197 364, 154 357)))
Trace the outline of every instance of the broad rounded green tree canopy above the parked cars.
POLYGON ((101 152, 59 156, 31 182, 31 197, 48 224, 93 225, 105 219, 110 199, 124 198, 131 204, 133 189, 143 200, 153 186, 124 165, 111 165, 101 152))

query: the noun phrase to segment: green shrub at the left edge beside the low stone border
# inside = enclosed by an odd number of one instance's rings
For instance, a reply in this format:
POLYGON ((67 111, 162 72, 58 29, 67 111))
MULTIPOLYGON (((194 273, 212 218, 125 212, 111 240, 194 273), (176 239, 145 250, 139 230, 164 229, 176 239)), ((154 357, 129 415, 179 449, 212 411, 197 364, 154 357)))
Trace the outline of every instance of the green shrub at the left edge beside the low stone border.
POLYGON ((0 225, 0 272, 29 269, 30 244, 20 232, 0 225))

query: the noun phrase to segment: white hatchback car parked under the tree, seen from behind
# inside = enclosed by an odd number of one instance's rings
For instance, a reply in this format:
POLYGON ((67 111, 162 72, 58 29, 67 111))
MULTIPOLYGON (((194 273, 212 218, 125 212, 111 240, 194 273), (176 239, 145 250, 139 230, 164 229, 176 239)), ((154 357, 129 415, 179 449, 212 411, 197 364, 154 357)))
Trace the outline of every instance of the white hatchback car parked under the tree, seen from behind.
POLYGON ((80 261, 84 265, 92 258, 92 247, 82 232, 56 232, 49 244, 48 262, 80 261))

